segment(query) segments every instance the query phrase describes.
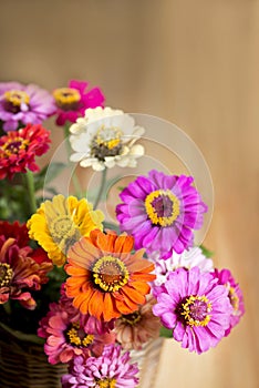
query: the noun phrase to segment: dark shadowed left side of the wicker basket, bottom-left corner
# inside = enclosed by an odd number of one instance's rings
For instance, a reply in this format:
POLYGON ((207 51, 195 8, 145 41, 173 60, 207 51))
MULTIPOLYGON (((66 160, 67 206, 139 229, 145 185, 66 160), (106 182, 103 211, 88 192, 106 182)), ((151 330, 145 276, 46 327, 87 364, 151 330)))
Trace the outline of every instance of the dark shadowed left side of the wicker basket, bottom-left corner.
POLYGON ((37 336, 0 326, 0 387, 61 388, 64 365, 50 365, 37 336))

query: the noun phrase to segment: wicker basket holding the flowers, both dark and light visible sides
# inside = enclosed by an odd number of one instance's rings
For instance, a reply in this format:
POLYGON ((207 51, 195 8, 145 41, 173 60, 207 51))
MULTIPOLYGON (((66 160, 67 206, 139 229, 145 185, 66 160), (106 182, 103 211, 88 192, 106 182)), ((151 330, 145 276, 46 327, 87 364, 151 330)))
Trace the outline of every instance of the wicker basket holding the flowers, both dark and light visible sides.
MULTIPOLYGON (((61 388, 64 365, 50 365, 37 336, 13 331, 0 324, 0 388, 61 388)), ((139 388, 155 388, 163 338, 132 351, 141 370, 139 388)))

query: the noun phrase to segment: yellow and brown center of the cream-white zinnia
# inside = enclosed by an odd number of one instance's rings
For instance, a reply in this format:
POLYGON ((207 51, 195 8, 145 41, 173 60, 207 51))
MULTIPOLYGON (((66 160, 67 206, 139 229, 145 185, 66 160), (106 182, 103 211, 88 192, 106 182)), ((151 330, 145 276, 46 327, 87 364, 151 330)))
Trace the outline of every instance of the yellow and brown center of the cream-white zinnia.
POLYGON ((122 150, 122 135, 123 132, 115 126, 100 126, 92 142, 92 156, 104 161, 106 156, 120 155, 122 150))

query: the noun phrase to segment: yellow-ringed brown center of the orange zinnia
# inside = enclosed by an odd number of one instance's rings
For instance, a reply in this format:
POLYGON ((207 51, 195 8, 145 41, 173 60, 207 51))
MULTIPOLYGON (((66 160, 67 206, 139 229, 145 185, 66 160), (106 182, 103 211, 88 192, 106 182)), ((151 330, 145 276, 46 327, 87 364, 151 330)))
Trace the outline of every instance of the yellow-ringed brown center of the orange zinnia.
POLYGON ((128 270, 117 257, 103 256, 93 266, 94 283, 104 292, 117 292, 128 282, 128 270))

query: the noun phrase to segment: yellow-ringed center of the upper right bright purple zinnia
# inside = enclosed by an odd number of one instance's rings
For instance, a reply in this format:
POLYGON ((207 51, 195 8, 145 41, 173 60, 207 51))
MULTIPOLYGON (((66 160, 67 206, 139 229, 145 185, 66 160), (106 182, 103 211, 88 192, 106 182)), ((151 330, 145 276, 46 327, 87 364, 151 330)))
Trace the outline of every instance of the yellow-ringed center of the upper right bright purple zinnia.
POLYGON ((179 207, 179 200, 169 190, 156 190, 145 200, 149 219, 159 226, 170 226, 180 214, 179 207))

